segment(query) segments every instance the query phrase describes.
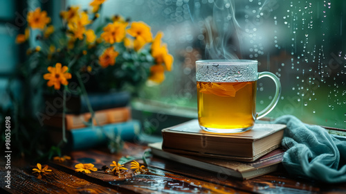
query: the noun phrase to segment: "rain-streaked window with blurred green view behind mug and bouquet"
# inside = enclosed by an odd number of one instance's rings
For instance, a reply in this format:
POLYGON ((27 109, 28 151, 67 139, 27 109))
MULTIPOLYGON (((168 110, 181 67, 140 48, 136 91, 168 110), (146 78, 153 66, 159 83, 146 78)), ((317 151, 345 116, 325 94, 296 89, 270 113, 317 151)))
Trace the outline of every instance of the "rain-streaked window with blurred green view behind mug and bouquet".
MULTIPOLYGON (((59 26, 61 10, 71 5, 86 9, 89 3, 0 0, 2 107, 12 105, 6 85, 17 65, 26 60, 26 49, 15 44, 15 37, 24 33, 27 12, 41 7, 59 26)), ((163 31, 163 42, 174 57, 165 81, 144 87, 133 99, 133 109, 147 115, 142 118, 145 127, 155 124, 152 112, 197 117, 196 60, 239 58, 258 60, 258 71, 271 71, 280 78, 282 94, 269 117, 293 114, 305 123, 345 129, 345 8, 346 1, 338 0, 108 0, 100 18, 118 14, 144 21, 153 34, 163 31)), ((18 78, 10 88, 20 96, 25 87, 18 78)), ((271 101, 274 87, 271 80, 258 81, 257 110, 271 101)))

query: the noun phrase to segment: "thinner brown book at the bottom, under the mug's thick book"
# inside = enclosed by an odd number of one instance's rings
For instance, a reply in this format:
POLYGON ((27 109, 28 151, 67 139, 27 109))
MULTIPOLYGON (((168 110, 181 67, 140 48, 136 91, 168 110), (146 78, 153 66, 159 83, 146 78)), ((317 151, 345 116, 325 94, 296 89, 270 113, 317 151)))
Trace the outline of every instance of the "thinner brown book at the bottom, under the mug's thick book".
POLYGON ((152 154, 165 159, 170 159, 181 164, 194 166, 203 170, 221 173, 239 179, 251 179, 267 173, 274 172, 282 161, 284 150, 278 148, 264 155, 257 161, 239 162, 228 159, 215 159, 209 157, 198 157, 191 155, 179 155, 165 152, 161 149, 162 143, 151 143, 149 147, 152 154))

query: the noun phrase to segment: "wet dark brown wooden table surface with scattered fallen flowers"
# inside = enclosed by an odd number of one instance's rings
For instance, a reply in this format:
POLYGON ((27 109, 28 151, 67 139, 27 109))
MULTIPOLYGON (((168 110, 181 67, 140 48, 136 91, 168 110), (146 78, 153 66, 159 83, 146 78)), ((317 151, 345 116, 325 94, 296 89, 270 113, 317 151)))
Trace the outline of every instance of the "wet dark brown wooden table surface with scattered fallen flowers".
MULTIPOLYGON (((52 172, 42 177, 32 173, 35 164, 11 166, 10 189, 5 187, 6 169, 1 164, 0 186, 8 193, 346 193, 346 183, 324 184, 290 177, 283 168, 261 177, 239 180, 152 157, 149 172, 145 174, 136 174, 131 169, 118 177, 101 170, 102 166, 109 166, 122 156, 141 156, 145 149, 147 146, 125 143, 117 155, 100 150, 74 151, 69 161, 47 161, 52 172), (79 163, 92 163, 100 170, 90 174, 76 173, 74 166, 79 163)), ((129 169, 130 164, 125 167, 129 169)))

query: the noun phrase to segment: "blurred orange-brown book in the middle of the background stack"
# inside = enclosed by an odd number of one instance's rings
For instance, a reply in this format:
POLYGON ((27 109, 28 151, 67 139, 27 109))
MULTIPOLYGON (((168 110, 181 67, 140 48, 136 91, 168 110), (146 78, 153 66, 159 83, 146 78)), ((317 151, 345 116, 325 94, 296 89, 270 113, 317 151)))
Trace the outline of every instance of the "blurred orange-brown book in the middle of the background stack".
MULTIPOLYGON (((66 114, 65 125, 66 130, 78 129, 87 127, 85 124, 91 118, 91 113, 84 114, 66 114)), ((95 111, 93 118, 94 125, 106 125, 110 123, 120 123, 129 121, 131 118, 131 110, 129 107, 118 107, 112 109, 103 109, 95 111), (97 122, 96 122, 97 121, 97 122)), ((44 125, 51 127, 62 127, 62 114, 51 116, 51 119, 46 119, 44 125)))

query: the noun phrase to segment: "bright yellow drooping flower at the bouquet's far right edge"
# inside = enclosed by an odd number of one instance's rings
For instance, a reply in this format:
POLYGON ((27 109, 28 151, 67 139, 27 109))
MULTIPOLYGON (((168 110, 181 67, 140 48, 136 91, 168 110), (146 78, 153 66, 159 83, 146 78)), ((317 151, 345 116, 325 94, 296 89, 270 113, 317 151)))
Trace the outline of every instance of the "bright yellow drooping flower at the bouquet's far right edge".
POLYGON ((163 33, 158 32, 154 41, 152 42, 152 56, 156 64, 165 64, 167 71, 172 70, 173 56, 168 53, 167 45, 161 45, 161 37, 163 33))

